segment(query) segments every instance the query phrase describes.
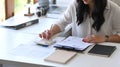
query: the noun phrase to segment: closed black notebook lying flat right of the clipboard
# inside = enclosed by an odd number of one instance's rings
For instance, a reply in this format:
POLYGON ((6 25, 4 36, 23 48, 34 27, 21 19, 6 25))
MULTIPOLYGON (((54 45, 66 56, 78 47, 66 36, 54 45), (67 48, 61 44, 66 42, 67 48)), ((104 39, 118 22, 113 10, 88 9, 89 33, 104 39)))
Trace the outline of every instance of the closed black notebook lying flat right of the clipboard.
POLYGON ((110 57, 111 54, 115 51, 115 49, 116 49, 116 46, 96 44, 88 53, 110 57))

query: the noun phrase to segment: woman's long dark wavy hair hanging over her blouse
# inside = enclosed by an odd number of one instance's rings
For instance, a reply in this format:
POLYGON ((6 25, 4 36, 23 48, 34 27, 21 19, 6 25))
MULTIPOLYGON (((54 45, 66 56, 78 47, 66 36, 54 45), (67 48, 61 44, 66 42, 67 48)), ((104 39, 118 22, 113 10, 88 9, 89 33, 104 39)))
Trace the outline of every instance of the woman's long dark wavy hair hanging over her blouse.
MULTIPOLYGON (((78 5, 76 8, 77 11, 77 23, 78 25, 81 24, 85 18, 85 16, 90 14, 89 6, 83 3, 83 0, 76 0, 78 5)), ((92 27, 99 31, 102 24, 105 21, 104 18, 104 10, 107 5, 107 0, 93 0, 94 3, 94 9, 92 11, 92 18, 94 20, 94 23, 92 27)))

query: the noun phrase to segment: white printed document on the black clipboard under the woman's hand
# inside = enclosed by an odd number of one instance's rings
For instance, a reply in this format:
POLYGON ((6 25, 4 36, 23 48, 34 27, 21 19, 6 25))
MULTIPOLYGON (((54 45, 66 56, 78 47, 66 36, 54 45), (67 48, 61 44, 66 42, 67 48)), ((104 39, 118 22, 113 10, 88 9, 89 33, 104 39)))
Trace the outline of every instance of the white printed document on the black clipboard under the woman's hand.
POLYGON ((82 40, 83 38, 80 38, 80 37, 69 36, 65 40, 61 42, 57 42, 55 46, 64 47, 64 48, 73 48, 75 50, 84 50, 88 46, 93 44, 93 43, 85 43, 82 40))

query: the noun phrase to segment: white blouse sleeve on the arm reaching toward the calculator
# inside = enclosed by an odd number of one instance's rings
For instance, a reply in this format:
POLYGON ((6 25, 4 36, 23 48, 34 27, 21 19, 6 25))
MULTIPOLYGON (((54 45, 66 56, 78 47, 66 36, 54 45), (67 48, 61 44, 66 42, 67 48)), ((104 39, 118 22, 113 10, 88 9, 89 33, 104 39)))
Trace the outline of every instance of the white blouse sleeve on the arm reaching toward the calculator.
POLYGON ((57 25, 60 27, 61 31, 64 31, 65 27, 72 23, 72 17, 75 16, 75 0, 69 5, 63 16, 57 22, 57 25))

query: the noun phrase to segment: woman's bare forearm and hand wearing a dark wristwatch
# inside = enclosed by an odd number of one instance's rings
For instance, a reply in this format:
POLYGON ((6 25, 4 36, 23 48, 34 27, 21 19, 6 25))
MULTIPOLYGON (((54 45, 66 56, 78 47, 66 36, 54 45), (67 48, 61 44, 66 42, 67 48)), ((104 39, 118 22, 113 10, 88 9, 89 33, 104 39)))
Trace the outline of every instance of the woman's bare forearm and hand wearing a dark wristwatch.
POLYGON ((102 43, 102 42, 120 43, 120 36, 118 34, 110 36, 89 35, 86 38, 84 38, 83 41, 88 43, 102 43))

